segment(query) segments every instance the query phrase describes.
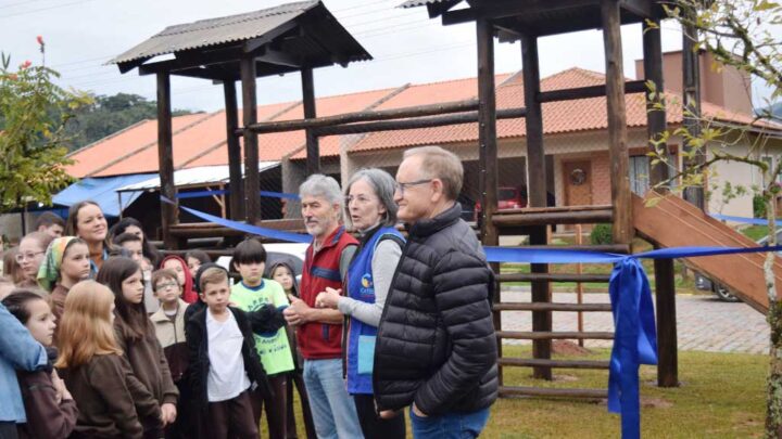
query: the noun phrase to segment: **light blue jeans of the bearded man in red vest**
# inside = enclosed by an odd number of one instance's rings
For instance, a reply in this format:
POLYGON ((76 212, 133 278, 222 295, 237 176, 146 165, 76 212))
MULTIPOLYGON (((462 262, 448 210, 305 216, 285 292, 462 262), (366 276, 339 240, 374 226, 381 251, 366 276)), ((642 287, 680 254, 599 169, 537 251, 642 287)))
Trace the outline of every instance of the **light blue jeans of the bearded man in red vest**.
POLYGON ((342 379, 342 360, 304 360, 304 385, 319 439, 364 437, 353 397, 342 379))

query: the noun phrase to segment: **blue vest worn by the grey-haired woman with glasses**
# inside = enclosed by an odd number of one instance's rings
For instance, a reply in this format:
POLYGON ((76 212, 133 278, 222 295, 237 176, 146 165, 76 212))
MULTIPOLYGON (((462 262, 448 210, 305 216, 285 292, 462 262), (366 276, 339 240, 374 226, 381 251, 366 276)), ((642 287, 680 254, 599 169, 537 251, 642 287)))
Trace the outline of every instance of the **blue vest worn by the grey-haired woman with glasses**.
MULTIPOLYGON (((375 282, 371 272, 371 260, 378 243, 386 237, 404 238, 394 228, 381 228, 364 244, 353 257, 348 269, 348 296, 366 304, 375 304, 375 282)), ((375 337, 377 327, 357 319, 350 318, 348 333, 348 392, 351 395, 371 395, 371 367, 375 361, 375 337)))

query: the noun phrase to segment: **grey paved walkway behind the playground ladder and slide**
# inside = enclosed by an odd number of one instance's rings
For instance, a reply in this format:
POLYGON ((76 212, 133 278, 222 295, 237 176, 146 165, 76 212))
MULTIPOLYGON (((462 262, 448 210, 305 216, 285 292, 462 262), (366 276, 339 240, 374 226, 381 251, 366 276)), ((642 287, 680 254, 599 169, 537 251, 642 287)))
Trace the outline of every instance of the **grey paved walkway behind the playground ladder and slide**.
MULTIPOLYGON (((518 287, 503 289, 502 300, 530 301, 518 287)), ((555 293, 554 301, 575 304, 576 294, 555 293)), ((608 302, 608 294, 584 294, 584 302, 608 302)), ((576 312, 554 312, 554 331, 577 331, 576 312)), ((610 312, 584 312, 584 331, 614 331, 610 312)), ((504 311, 503 330, 532 331, 530 311, 504 311)), ((720 301, 716 296, 678 296, 677 327, 680 350, 767 353, 769 330, 765 315, 744 304, 720 301)), ((525 340, 506 340, 529 344, 525 340)), ((585 340, 585 347, 610 347, 610 340, 585 340)))

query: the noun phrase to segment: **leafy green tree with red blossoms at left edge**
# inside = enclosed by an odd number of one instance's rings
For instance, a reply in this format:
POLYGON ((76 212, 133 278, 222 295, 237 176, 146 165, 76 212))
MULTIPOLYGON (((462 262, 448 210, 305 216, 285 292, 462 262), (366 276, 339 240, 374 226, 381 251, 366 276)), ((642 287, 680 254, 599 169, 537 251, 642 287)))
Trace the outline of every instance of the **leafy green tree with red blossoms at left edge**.
POLYGON ((12 70, 11 57, 0 55, 0 211, 50 205, 71 181, 64 127, 90 99, 54 85, 59 74, 50 68, 27 61, 12 70))

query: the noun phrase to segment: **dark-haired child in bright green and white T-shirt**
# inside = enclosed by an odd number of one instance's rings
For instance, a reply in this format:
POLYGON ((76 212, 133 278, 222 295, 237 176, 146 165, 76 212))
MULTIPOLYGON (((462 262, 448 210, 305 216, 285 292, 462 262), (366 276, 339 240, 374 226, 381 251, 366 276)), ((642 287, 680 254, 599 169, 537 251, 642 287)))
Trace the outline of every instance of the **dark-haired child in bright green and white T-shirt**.
MULTIPOLYGON (((249 238, 237 245, 234 250, 234 267, 242 280, 231 287, 231 302, 242 311, 256 311, 272 304, 278 309, 290 305, 285 289, 276 281, 263 279, 266 268, 266 249, 255 238, 249 238)), ((252 398, 256 417, 261 417, 263 405, 266 405, 266 422, 272 439, 285 439, 287 436, 286 404, 287 375, 293 370, 293 356, 286 328, 270 333, 255 334, 255 349, 261 363, 266 370, 269 385, 275 398, 255 395, 252 398)))

